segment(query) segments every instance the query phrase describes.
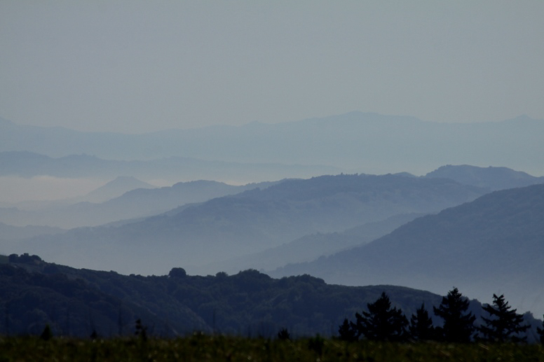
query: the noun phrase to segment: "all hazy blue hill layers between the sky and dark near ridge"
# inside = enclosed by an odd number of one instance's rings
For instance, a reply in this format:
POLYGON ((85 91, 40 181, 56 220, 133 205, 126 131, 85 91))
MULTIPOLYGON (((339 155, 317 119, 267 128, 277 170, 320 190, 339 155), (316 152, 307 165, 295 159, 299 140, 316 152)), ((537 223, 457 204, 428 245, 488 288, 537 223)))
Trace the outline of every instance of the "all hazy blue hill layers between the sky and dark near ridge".
POLYGON ((57 200, 1 202, 0 253, 123 274, 251 269, 434 293, 455 285, 544 312, 544 177, 503 166, 542 170, 542 120, 351 112, 139 135, 8 120, 0 128, 0 178, 102 182, 57 200), (407 168, 348 172, 383 167, 407 168), (156 187, 158 179, 177 181, 156 187))

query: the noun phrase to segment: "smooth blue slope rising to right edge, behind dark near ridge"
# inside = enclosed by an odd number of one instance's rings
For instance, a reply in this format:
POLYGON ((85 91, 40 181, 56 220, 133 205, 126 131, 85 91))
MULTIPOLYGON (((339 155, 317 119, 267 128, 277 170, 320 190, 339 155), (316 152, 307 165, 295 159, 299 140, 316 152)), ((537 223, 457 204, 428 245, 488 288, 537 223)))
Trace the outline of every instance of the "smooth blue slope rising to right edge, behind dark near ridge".
POLYGON ((272 275, 309 273, 330 283, 398 284, 475 298, 505 293, 544 313, 544 185, 496 191, 423 216, 374 242, 272 275))

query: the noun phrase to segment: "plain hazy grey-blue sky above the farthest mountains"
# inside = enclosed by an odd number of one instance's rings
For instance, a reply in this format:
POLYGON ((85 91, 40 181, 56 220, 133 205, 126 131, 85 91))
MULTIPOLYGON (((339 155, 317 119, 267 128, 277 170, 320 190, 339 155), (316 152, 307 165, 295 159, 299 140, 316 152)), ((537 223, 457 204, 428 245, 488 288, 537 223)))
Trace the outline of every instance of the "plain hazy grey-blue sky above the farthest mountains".
POLYGON ((0 1, 0 116, 76 130, 544 118, 544 1, 0 1))

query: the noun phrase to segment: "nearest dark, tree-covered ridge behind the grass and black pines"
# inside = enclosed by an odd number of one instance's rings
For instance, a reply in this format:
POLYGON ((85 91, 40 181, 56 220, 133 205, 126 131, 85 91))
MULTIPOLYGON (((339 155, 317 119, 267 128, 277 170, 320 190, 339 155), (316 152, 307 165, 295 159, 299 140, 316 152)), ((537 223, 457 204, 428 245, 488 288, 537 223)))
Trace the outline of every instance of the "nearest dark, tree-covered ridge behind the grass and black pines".
MULTIPOLYGON (((176 267, 160 277, 126 276, 13 254, 0 256, 0 291, 2 335, 39 335, 48 325, 55 336, 130 336, 139 320, 148 335, 158 337, 195 331, 275 337, 282 328, 292 337, 330 336, 381 293, 408 318, 424 304, 435 326, 442 324, 432 312, 442 298, 427 291, 328 285, 309 275, 272 279, 256 270, 198 277, 176 267)), ((470 301, 470 312, 483 314, 480 302, 470 301)), ((524 322, 534 342, 542 322, 530 314, 524 322)))

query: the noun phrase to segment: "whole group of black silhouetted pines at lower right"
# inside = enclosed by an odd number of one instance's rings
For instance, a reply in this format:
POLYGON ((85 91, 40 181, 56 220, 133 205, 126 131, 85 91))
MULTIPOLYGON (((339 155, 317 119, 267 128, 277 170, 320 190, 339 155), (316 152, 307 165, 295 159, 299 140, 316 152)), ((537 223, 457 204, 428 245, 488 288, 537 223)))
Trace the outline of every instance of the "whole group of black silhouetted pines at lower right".
MULTIPOLYGON (((524 342, 522 336, 529 325, 523 324, 523 316, 511 309, 504 295, 493 295, 493 305, 484 305, 481 326, 476 326, 476 316, 468 312, 468 298, 457 288, 442 298, 438 307, 433 307, 435 316, 440 317, 442 326, 434 326, 425 305, 422 304, 410 320, 401 309, 391 308, 388 295, 383 292, 374 303, 367 304, 367 312, 355 314, 355 321, 344 319, 339 326, 341 340, 355 341, 361 338, 376 341, 404 342, 407 340, 435 340, 442 342, 524 342)), ((544 330, 538 328, 544 343, 544 330)))

